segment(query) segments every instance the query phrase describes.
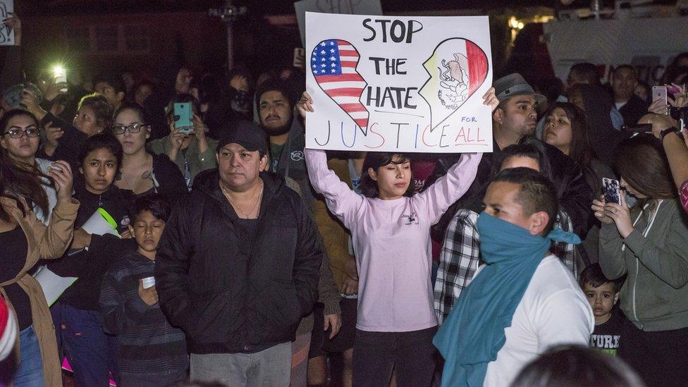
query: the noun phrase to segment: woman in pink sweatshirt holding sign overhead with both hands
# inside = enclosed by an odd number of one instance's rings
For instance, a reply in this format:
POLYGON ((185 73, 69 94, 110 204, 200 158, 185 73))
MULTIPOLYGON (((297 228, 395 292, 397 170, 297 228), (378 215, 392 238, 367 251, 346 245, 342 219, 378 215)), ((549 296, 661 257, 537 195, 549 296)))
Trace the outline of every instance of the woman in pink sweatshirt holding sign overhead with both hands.
MULTIPOLYGON (((494 109, 491 89, 483 97, 494 109)), ((304 93, 302 116, 314 111, 304 93)), ((404 154, 369 152, 358 195, 327 168, 323 150, 306 149, 313 188, 351 231, 359 273, 354 385, 386 386, 392 370, 409 386, 432 380, 437 330, 430 281, 430 226, 473 182, 481 154, 465 154, 447 175, 414 195, 404 154)))

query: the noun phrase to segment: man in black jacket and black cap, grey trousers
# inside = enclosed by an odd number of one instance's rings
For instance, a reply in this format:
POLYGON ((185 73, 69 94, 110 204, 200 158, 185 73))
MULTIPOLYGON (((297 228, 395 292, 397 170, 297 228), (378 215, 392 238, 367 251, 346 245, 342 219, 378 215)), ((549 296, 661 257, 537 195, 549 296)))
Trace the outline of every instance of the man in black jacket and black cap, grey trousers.
POLYGON ((258 128, 238 125, 178 202, 156 256, 161 309, 182 328, 192 381, 287 386, 290 342, 316 300, 317 228, 267 162, 258 128))

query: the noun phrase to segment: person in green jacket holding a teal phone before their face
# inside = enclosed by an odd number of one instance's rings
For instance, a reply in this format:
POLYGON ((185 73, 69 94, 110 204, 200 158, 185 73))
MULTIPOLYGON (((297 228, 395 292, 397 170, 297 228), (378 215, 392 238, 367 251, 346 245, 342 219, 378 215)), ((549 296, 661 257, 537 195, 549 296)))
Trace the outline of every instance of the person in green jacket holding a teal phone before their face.
POLYGON ((206 169, 217 167, 215 152, 217 140, 206 137, 205 125, 199 117, 197 99, 191 94, 178 94, 166 108, 167 125, 170 134, 149 142, 148 149, 155 154, 166 154, 170 160, 177 164, 184 175, 184 180, 189 190, 193 179, 198 173, 206 169), (174 104, 189 102, 193 111, 193 133, 180 133, 183 130, 174 128, 174 104))

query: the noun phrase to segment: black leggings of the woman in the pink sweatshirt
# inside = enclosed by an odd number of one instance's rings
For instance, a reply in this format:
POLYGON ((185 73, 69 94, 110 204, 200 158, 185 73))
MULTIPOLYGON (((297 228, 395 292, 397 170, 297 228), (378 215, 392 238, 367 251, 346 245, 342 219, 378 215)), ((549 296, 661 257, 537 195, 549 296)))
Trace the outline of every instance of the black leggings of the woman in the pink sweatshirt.
POLYGON ((411 332, 367 332, 356 330, 353 384, 356 387, 386 387, 392 370, 397 385, 428 387, 435 370, 432 338, 437 327, 411 332))

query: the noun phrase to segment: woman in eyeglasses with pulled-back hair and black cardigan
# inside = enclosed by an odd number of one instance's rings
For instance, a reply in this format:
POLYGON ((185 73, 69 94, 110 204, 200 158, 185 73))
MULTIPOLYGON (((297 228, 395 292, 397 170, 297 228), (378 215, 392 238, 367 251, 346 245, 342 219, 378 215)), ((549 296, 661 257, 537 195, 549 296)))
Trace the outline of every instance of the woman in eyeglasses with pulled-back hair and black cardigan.
POLYGON ((156 192, 176 199, 188 192, 182 173, 168 156, 146 150, 151 127, 144 120, 143 109, 136 104, 122 106, 114 114, 112 132, 122 145, 124 155, 115 185, 133 195, 156 192))

